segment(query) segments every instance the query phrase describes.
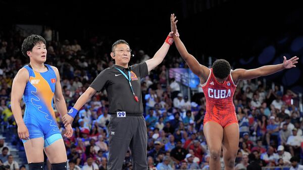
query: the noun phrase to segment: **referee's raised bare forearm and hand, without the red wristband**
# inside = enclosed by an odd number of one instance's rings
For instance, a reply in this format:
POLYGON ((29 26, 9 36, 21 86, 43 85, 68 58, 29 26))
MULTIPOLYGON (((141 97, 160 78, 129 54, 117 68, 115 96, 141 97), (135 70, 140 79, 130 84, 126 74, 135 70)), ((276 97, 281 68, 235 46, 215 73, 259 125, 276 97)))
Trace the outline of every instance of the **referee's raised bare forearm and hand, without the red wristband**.
MULTIPOLYGON (((168 36, 173 37, 172 34, 173 32, 170 32, 168 36)), ((157 67, 160 63, 162 63, 163 59, 165 58, 165 55, 167 54, 169 47, 170 45, 164 42, 161 48, 155 53, 154 57, 146 61, 148 72, 150 72, 155 67, 157 67)))

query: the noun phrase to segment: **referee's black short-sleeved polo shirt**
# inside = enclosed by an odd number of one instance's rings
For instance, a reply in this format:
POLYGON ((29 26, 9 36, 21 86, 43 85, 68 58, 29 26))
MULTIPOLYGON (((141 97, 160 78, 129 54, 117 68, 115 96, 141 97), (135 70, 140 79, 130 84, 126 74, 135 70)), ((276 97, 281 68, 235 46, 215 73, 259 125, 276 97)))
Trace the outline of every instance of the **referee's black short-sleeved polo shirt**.
POLYGON ((126 69, 113 65, 103 70, 94 79, 90 87, 96 91, 100 91, 105 87, 110 102, 110 114, 116 115, 117 111, 126 111, 126 116, 142 115, 141 78, 144 78, 147 74, 148 70, 145 62, 132 65, 126 69), (139 102, 135 101, 128 80, 115 67, 122 70, 127 77, 128 70, 131 71, 131 85, 139 102))

